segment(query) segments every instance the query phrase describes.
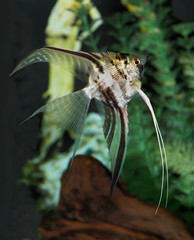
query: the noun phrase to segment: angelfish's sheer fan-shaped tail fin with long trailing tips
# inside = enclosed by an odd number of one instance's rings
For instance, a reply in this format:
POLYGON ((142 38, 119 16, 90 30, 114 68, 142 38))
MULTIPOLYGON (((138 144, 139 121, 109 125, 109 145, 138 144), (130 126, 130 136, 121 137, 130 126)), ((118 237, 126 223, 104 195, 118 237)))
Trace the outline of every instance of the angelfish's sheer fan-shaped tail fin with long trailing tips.
POLYGON ((90 98, 88 95, 84 90, 80 90, 47 103, 46 105, 36 110, 22 123, 34 117, 38 113, 44 112, 57 127, 60 127, 63 130, 72 131, 74 133, 74 157, 83 131, 89 103, 90 98))

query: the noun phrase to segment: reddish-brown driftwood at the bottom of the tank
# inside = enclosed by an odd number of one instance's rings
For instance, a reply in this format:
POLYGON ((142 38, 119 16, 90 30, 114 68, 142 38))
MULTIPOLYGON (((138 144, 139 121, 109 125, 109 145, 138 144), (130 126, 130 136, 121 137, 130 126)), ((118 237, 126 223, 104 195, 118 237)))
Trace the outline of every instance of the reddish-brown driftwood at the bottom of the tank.
POLYGON ((55 214, 40 225, 42 240, 192 240, 185 225, 167 210, 131 195, 121 179, 108 201, 111 174, 94 158, 78 156, 55 214), (52 218, 52 219, 51 219, 52 218))

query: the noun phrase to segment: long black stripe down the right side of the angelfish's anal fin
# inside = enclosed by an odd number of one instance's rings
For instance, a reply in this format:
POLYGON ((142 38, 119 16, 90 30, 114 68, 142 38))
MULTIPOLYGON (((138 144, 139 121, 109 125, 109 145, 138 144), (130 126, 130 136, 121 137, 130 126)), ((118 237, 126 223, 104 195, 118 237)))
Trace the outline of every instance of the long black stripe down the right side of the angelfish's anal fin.
POLYGON ((111 187, 110 187, 109 198, 111 197, 111 195, 113 193, 113 190, 115 188, 115 185, 117 183, 117 180, 119 178, 119 173, 120 173, 120 169, 121 169, 121 166, 122 166, 122 160, 123 160, 123 157, 124 157, 125 147, 126 147, 125 120, 124 120, 122 110, 120 108, 118 108, 118 111, 119 111, 120 120, 121 120, 121 136, 120 136, 120 143, 119 143, 119 150, 118 150, 118 153, 117 153, 116 164, 115 164, 115 168, 114 168, 114 172, 113 172, 113 176, 112 176, 112 183, 111 183, 111 187))

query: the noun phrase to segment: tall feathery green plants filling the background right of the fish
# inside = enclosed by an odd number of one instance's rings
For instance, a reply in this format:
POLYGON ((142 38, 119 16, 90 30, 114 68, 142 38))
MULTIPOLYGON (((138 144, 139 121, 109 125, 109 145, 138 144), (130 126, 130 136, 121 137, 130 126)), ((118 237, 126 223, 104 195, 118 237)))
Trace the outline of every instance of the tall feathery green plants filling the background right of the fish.
MULTIPOLYGON (((194 140, 194 23, 178 23, 166 0, 121 2, 128 12, 116 13, 114 24, 111 19, 106 21, 111 29, 109 34, 114 38, 112 47, 115 51, 140 52, 148 56, 143 89, 147 88, 146 91, 150 92, 149 97, 167 140, 170 175, 168 208, 192 226, 194 219, 190 211, 194 199, 194 177, 193 168, 187 166, 188 161, 191 166, 193 160, 188 160, 187 150, 191 150, 194 140), (122 31, 127 28, 128 34, 126 30, 122 31), (180 154, 180 151, 183 153, 180 154), (186 175, 183 177, 186 172, 188 178, 186 175), (179 210, 181 206, 185 209, 184 216, 179 210)), ((157 203, 161 167, 157 161, 152 122, 139 100, 131 102, 128 111, 131 132, 122 176, 137 196, 157 203)))

